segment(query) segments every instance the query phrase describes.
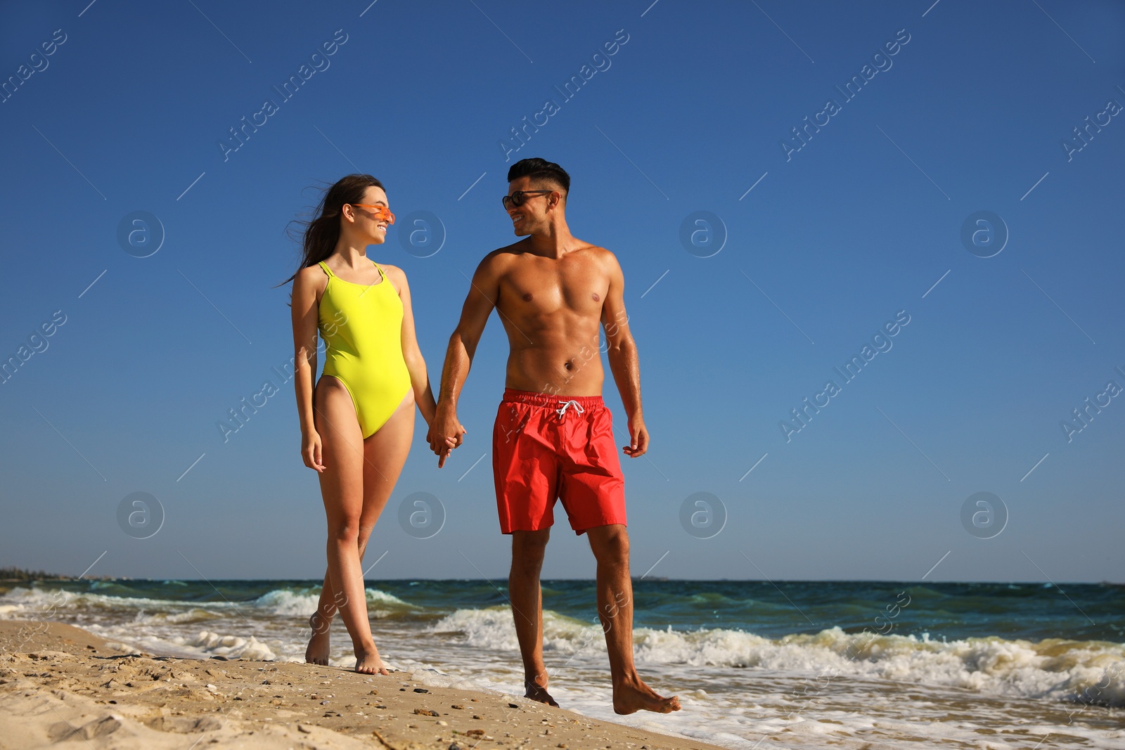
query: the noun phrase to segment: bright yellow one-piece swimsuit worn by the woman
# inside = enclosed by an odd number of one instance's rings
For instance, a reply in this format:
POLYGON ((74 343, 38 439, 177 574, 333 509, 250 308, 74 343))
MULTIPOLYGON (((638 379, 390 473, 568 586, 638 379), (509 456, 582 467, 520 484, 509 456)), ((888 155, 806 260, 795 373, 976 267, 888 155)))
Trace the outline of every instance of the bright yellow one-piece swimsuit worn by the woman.
POLYGON ((411 389, 403 358, 403 300, 378 263, 380 281, 370 286, 344 281, 327 263, 320 265, 328 274, 318 316, 327 350, 323 374, 342 382, 351 394, 367 440, 386 424, 411 389))

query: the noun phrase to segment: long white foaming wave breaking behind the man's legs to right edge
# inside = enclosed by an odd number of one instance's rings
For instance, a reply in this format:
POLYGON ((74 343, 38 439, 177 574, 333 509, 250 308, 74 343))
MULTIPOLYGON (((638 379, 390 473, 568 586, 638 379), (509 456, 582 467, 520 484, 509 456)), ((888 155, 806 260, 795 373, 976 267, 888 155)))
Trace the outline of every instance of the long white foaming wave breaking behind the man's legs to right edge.
MULTIPOLYGON (((459 632, 468 645, 518 651, 505 607, 458 609, 428 629, 459 632)), ((738 630, 633 631, 638 662, 729 667, 816 676, 870 677, 958 687, 1010 697, 1125 706, 1125 644, 1107 641, 1008 640, 998 636, 932 641, 928 635, 845 633, 768 639, 738 630)), ((543 612, 543 650, 604 652, 602 629, 543 612)))

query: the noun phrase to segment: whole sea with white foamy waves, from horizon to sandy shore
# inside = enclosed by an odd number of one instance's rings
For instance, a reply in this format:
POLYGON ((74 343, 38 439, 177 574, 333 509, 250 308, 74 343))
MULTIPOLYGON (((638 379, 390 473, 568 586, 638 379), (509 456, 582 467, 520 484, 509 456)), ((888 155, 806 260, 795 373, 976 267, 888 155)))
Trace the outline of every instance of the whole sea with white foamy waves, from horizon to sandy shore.
MULTIPOLYGON (((385 663, 425 685, 522 695, 503 585, 368 580, 385 663)), ((683 711, 616 716, 592 580, 547 580, 544 656, 586 716, 757 748, 1125 749, 1125 586, 636 580, 638 671, 683 711)), ((320 582, 16 585, 0 617, 164 656, 304 661, 320 582)), ((354 666, 339 617, 331 663, 354 666)))

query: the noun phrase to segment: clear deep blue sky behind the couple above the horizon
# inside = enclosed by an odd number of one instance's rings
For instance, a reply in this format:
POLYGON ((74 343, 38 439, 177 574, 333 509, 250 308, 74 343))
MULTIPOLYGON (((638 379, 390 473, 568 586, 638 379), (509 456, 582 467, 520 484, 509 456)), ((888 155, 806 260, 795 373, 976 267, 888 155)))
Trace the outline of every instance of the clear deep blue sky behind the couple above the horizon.
MULTIPOLYGON (((371 255, 407 272, 436 378, 466 274, 513 240, 507 166, 542 156, 570 172, 572 231, 626 273, 652 436, 622 461, 634 575, 1122 580, 1125 399, 1084 425, 1072 409, 1125 387, 1125 7, 368 2, 0 8, 18 81, 0 103, 0 354, 26 358, 0 385, 0 564, 322 575, 316 477, 272 369, 292 355, 286 224, 318 184, 385 182, 399 223, 371 255), (806 117, 822 126, 795 150, 806 117), (118 242, 134 211, 163 231, 147 257, 118 242), (400 242, 423 211, 444 234, 428 257, 400 242), (721 226, 684 245, 698 211, 721 226), (990 257, 962 242, 978 211, 1006 227, 990 257), (834 368, 897 315, 845 382, 834 368), (224 442, 217 423, 266 380, 281 392, 224 442), (148 539, 118 527, 135 491, 164 509, 148 539), (961 521, 981 491, 1007 509, 990 539, 961 521), (695 493, 726 510, 709 539, 681 525, 695 493)), ((369 577, 505 578, 485 455, 505 346, 494 316, 446 469, 418 421, 369 577), (397 519, 418 491, 446 512, 430 539, 397 519)), ((623 443, 611 379, 605 396, 623 443)), ((561 514, 543 575, 593 575, 561 514)))

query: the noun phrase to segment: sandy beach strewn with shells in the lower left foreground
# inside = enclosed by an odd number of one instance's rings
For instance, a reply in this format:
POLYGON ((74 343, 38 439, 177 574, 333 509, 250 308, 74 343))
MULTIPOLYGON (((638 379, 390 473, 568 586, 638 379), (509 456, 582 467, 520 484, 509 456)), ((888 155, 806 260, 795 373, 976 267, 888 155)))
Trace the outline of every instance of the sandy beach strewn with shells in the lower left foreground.
POLYGON ((0 622, 0 645, 3 750, 716 748, 406 672, 136 653, 56 622, 0 622))

